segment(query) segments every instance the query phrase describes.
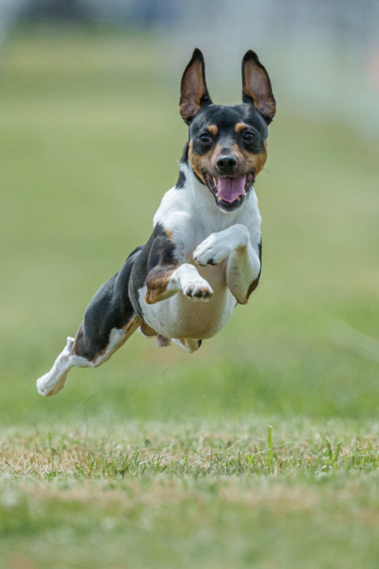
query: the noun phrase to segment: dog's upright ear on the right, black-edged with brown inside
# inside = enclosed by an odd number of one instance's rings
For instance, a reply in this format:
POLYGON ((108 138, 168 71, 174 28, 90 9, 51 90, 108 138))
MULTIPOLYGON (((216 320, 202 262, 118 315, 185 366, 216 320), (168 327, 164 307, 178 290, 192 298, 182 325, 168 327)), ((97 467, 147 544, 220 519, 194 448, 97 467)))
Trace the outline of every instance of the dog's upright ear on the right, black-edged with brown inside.
POLYGON ((242 60, 242 100, 254 105, 269 125, 276 113, 276 102, 268 73, 252 50, 242 60))

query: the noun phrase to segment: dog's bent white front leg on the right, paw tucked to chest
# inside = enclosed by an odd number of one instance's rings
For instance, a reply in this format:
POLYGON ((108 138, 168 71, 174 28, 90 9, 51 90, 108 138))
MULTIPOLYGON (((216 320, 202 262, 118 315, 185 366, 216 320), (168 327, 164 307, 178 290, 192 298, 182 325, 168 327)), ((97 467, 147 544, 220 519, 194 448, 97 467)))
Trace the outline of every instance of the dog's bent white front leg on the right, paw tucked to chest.
POLYGON ((246 304, 257 287, 261 270, 261 242, 253 248, 248 229, 241 224, 211 233, 193 254, 199 265, 218 265, 227 260, 228 288, 240 304, 246 304))

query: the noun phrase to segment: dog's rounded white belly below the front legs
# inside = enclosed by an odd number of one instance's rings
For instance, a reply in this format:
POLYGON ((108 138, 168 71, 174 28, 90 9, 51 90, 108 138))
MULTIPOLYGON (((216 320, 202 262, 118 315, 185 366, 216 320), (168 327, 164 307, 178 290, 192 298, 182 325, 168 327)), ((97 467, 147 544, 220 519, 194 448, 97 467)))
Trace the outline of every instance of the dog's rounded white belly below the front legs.
POLYGON ((182 292, 155 304, 146 304, 146 286, 140 288, 139 298, 144 321, 161 336, 203 340, 214 336, 232 314, 236 299, 228 289, 221 267, 199 267, 199 273, 213 288, 207 300, 194 300, 182 292))

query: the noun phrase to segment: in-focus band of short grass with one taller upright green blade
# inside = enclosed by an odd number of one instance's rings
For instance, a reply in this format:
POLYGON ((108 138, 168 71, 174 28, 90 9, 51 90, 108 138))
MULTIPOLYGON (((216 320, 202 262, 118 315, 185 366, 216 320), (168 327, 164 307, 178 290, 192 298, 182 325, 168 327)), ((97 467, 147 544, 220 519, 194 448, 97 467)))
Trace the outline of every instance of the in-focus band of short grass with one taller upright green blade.
MULTIPOLYGON (((295 433, 293 433, 295 435, 295 433)), ((327 437, 280 442, 273 445, 273 428, 266 440, 250 436, 233 438, 197 432, 188 440, 181 434, 160 436, 149 446, 140 437, 127 443, 115 436, 107 439, 86 434, 85 438, 48 433, 47 438, 29 436, 3 439, 1 468, 13 476, 52 480, 73 476, 123 479, 172 476, 230 476, 249 474, 308 473, 375 470, 378 438, 339 440, 335 446, 327 437), (270 445, 270 446, 269 446, 270 445)))

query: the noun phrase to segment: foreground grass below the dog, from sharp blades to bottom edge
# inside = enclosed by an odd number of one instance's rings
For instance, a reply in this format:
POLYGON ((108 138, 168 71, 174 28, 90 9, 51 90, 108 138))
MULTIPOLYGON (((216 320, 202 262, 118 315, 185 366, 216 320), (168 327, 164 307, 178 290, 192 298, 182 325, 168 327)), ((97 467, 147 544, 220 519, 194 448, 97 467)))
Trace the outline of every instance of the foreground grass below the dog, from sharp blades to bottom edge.
POLYGON ((297 420, 286 440, 256 419, 219 427, 8 435, 10 566, 21 542, 38 567, 375 567, 377 424, 330 421, 325 438, 297 420))

